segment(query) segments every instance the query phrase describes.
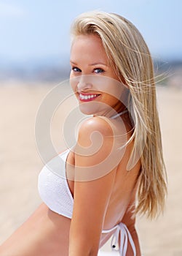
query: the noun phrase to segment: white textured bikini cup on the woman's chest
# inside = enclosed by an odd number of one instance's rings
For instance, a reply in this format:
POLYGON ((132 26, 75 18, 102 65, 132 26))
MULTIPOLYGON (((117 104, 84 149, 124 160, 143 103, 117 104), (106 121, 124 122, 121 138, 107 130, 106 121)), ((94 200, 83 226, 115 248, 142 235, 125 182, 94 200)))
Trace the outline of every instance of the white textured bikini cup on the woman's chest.
POLYGON ((39 173, 38 189, 41 200, 52 210, 72 218, 74 198, 66 179, 66 159, 69 150, 59 154, 44 165, 39 173))

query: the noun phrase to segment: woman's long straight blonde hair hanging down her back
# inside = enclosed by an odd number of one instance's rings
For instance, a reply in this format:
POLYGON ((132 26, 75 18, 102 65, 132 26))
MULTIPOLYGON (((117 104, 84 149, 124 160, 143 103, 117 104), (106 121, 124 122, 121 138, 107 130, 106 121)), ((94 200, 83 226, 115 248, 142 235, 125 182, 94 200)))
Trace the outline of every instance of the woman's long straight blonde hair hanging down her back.
POLYGON ((136 155, 141 157, 135 213, 156 217, 165 206, 167 185, 149 48, 138 29, 114 13, 94 11, 79 15, 74 20, 71 33, 74 37, 97 34, 116 75, 130 89, 127 107, 134 119, 130 165, 136 155))

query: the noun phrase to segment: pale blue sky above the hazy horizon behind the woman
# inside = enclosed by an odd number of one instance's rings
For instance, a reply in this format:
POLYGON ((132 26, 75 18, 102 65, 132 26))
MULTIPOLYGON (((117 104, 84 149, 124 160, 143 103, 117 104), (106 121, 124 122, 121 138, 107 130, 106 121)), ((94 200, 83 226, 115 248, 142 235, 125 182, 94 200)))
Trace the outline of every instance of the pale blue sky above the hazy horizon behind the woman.
POLYGON ((68 56, 71 23, 90 10, 129 19, 154 58, 182 60, 181 0, 0 0, 0 62, 68 56))

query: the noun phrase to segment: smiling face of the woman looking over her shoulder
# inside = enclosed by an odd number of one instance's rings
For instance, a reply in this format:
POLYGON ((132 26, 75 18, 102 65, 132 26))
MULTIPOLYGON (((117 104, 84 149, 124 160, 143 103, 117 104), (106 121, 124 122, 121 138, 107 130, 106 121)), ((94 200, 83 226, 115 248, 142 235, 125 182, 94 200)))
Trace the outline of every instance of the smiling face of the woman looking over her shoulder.
POLYGON ((87 115, 111 116, 123 105, 124 86, 109 64, 100 37, 79 35, 71 47, 71 86, 79 108, 87 115))

